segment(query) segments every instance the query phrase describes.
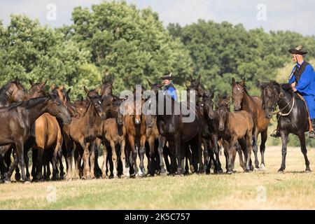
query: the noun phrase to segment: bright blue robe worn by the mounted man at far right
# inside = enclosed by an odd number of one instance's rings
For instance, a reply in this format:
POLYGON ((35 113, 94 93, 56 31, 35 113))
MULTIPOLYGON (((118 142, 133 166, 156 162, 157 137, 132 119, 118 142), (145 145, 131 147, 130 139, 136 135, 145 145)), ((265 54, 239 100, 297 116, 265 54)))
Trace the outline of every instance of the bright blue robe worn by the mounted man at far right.
POLYGON ((309 109, 309 116, 311 119, 315 118, 315 73, 313 66, 308 62, 297 64, 293 68, 289 83, 296 81, 295 89, 304 97, 309 109), (296 70, 296 71, 295 71, 296 70))

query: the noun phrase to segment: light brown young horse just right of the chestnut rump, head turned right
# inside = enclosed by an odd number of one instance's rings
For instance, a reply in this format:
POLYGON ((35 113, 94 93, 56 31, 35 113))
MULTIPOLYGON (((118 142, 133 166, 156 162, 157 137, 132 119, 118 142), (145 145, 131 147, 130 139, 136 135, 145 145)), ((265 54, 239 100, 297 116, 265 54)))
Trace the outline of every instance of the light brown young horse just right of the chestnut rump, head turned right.
MULTIPOLYGON (((72 118, 69 125, 64 125, 63 136, 66 144, 66 160, 68 162, 68 170, 66 172, 66 179, 72 179, 72 149, 73 142, 80 146, 79 152, 83 157, 83 179, 94 179, 94 158, 95 158, 95 139, 97 138, 97 118, 106 119, 106 114, 102 109, 102 99, 100 96, 89 96, 90 91, 85 88, 87 92, 87 112, 83 118, 72 118)), ((80 164, 78 165, 80 166, 80 164)), ((76 169, 78 169, 76 166, 76 169)), ((76 173, 78 171, 76 170, 76 173)))

